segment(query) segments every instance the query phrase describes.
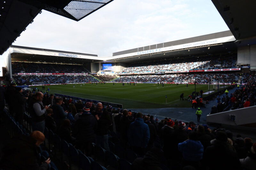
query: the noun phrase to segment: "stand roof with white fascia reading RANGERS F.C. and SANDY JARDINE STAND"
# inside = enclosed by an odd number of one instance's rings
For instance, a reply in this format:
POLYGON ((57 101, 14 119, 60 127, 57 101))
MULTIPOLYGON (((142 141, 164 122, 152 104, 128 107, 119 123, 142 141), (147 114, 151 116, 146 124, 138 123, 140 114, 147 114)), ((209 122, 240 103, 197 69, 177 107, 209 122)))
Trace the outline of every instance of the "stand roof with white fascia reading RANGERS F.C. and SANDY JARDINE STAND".
MULTIPOLYGON (((232 35, 230 31, 222 31, 218 33, 201 35, 197 37, 186 38, 177 41, 171 41, 166 43, 154 44, 145 47, 139 47, 131 50, 124 50, 120 52, 113 53, 113 57, 107 58, 110 61, 118 61, 121 60, 127 62, 129 60, 134 60, 137 58, 150 58, 150 57, 161 57, 162 55, 196 55, 198 52, 192 53, 192 51, 208 51, 208 53, 212 53, 214 51, 223 51, 224 50, 235 50, 236 45, 234 43, 235 37, 232 35), (230 43, 231 42, 231 43, 230 43), (211 47, 208 49, 208 47, 211 47), (205 48, 206 47, 206 48, 205 48), (207 50, 205 50, 205 49, 207 50), (214 51, 212 51, 214 49, 214 51), (188 51, 188 53, 186 53, 188 51), (128 59, 129 58, 129 59, 128 59)), ((206 52, 207 54, 207 52, 206 52)))

